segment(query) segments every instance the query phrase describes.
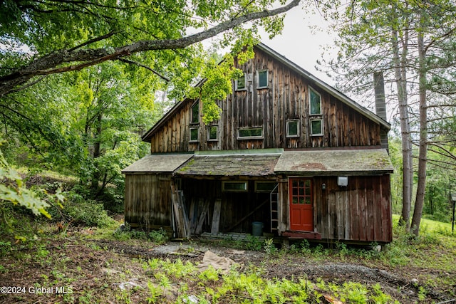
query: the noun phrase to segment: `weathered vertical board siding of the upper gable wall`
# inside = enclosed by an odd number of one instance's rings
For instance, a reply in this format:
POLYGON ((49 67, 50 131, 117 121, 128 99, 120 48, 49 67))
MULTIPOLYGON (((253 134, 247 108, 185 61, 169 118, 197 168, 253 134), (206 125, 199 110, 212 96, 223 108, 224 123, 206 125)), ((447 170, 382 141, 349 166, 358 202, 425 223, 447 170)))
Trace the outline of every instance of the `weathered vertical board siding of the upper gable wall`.
MULTIPOLYGON (((261 148, 350 147, 380 145, 380 125, 318 90, 293 70, 257 50, 254 60, 239 66, 252 73, 253 88, 234 91, 219 101, 219 141, 207 142, 207 127, 199 124, 199 142, 189 143, 192 102, 183 101, 170 120, 151 140, 151 152, 238 150, 261 148), (257 70, 269 70, 269 88, 257 89, 257 70), (310 135, 309 85, 321 93, 323 136, 310 135), (286 120, 301 120, 301 136, 286 138, 286 120), (237 140, 238 127, 263 127, 263 140, 237 140)), ((234 83, 234 81, 233 81, 234 83)))

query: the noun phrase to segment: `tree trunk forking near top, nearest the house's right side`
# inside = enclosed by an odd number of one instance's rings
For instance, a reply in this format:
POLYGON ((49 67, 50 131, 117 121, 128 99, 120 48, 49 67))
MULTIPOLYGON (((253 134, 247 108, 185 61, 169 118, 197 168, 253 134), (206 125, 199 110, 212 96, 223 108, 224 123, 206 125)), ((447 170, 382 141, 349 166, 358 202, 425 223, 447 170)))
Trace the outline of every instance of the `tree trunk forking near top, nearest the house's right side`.
POLYGON ((403 159, 403 205, 400 214, 399 224, 410 230, 410 206, 412 204, 413 189, 413 154, 412 140, 410 138, 410 117, 408 113, 407 99, 407 71, 405 59, 408 53, 408 35, 403 37, 402 56, 399 56, 398 31, 393 29, 393 63, 395 70, 395 83, 398 88, 398 103, 400 117, 400 135, 402 140, 402 159, 403 159))

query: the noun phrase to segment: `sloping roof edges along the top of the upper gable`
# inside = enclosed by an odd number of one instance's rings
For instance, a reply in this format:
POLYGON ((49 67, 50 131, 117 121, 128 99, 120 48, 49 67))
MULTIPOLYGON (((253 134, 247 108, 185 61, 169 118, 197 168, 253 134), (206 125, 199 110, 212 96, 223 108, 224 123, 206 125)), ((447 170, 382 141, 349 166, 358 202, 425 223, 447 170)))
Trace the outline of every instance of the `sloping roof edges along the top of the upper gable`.
MULTIPOLYGON (((301 68, 299 65, 296 63, 290 61, 287 59, 285 56, 282 56, 281 54, 277 53, 273 49, 269 48, 269 46, 266 46, 263 43, 259 43, 255 48, 258 48, 259 50, 263 51, 264 53, 268 54, 269 56, 275 58, 277 61, 281 62, 282 64, 286 65, 288 68, 291 70, 294 70, 294 72, 298 73, 301 77, 305 78, 309 82, 313 83, 316 87, 320 88, 321 90, 325 91, 326 93, 329 93, 339 100, 341 100, 342 103, 345 103, 348 105, 350 108, 353 110, 356 110, 357 112, 360 112, 362 115, 370 118, 374 122, 378 123, 379 125, 382 125, 386 129, 390 130, 391 125, 383 120, 380 116, 376 115, 374 112, 371 112, 371 110, 368 110, 367 108, 364 108, 362 105, 356 103, 355 100, 349 98, 347 95, 341 93, 339 90, 336 90, 336 88, 333 88, 331 85, 328 85, 325 83, 323 80, 317 78, 316 76, 312 75, 309 73, 309 71, 304 70, 304 68, 301 68)), ((199 83, 196 86, 202 85, 205 80, 199 81, 199 83)), ((150 142, 150 138, 152 135, 155 133, 157 129, 159 129, 172 115, 174 115, 177 111, 179 111, 186 103, 191 103, 194 100, 190 98, 185 98, 185 100, 182 100, 182 102, 177 103, 174 105, 171 110, 169 110, 165 115, 163 115, 160 120, 158 120, 155 125, 153 125, 150 130, 145 132, 144 135, 142 135, 141 140, 144 142, 150 142)))

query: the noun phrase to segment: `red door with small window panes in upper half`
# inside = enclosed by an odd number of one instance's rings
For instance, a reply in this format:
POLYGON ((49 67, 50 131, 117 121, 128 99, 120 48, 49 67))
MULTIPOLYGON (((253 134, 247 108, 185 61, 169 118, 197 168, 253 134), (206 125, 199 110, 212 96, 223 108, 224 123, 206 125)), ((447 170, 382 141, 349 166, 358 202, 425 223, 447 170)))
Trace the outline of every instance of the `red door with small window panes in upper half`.
POLYGON ((314 231, 311 179, 291 178, 289 187, 290 229, 294 231, 314 231))

